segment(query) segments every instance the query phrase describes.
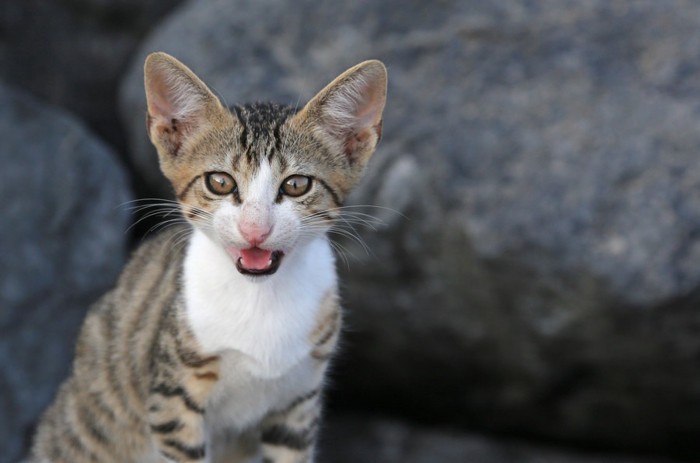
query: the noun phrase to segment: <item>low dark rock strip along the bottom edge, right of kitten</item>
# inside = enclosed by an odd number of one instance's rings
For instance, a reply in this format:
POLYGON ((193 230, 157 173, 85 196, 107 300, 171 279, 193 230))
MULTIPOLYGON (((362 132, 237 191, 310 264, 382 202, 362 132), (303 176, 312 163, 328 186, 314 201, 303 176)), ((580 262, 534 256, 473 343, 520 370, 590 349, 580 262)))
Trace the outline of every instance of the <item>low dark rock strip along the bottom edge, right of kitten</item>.
POLYGON ((320 442, 322 463, 672 463, 662 458, 582 453, 364 415, 328 420, 320 442))

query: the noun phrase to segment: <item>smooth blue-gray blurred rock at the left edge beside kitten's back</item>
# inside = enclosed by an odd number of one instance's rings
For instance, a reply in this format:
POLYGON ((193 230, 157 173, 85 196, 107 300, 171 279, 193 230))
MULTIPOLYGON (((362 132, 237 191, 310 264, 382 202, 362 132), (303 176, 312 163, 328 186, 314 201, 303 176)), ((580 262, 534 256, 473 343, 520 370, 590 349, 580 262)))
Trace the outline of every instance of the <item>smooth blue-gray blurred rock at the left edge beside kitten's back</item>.
POLYGON ((72 116, 0 85, 0 462, 68 374, 85 311, 124 262, 128 180, 72 116))

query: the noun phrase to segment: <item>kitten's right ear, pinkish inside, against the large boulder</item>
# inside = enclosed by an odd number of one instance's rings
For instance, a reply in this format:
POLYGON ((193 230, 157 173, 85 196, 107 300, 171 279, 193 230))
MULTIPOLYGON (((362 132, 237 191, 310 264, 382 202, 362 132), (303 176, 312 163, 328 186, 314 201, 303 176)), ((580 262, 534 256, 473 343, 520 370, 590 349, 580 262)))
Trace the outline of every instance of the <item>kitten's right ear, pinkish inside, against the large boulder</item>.
POLYGON ((364 167, 382 136, 387 72, 381 61, 360 63, 338 76, 300 112, 315 132, 353 167, 364 167))

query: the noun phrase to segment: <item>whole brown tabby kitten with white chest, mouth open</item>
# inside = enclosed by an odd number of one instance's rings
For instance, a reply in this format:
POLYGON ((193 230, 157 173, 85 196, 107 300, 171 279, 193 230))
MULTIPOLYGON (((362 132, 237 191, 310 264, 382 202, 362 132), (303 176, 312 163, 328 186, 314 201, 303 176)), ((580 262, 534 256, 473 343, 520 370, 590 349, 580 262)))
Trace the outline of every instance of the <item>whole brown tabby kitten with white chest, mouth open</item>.
POLYGON ((381 137, 386 84, 366 61, 299 112, 229 111, 175 58, 146 59, 149 136, 188 224, 89 311, 33 461, 314 460, 341 324, 326 232, 381 137))

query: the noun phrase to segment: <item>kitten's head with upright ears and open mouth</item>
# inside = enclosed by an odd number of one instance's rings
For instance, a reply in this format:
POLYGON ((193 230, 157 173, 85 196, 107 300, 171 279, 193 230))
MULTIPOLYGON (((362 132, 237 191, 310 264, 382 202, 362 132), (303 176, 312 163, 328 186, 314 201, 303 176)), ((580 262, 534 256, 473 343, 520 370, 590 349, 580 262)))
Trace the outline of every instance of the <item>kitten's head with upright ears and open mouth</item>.
POLYGON ((324 235, 381 138, 387 73, 365 61, 300 111, 225 108, 184 64, 145 64, 148 134, 187 220, 239 272, 269 275, 324 235))

